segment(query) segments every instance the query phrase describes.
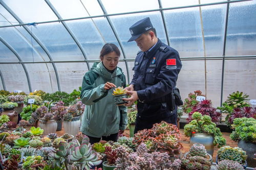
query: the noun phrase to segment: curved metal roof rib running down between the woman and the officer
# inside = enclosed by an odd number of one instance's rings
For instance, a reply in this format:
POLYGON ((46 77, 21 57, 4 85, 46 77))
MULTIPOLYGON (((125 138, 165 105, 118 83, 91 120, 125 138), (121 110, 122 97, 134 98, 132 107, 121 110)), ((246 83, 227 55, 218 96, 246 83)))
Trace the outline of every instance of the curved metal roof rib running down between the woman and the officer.
MULTIPOLYGON (((98 1, 98 3, 99 3, 99 6, 100 6, 100 8, 102 9, 103 13, 104 13, 104 14, 108 14, 108 13, 106 12, 106 10, 105 10, 105 8, 104 8, 104 6, 103 6, 101 0, 97 0, 97 1, 98 1)), ((125 62, 125 66, 126 66, 127 80, 128 80, 128 82, 129 82, 129 84, 130 84, 129 66, 128 66, 127 61, 125 60, 125 59, 126 59, 126 55, 125 55, 125 53, 124 53, 123 44, 122 44, 122 42, 121 42, 119 36, 117 35, 116 29, 115 29, 115 27, 114 27, 114 25, 113 25, 113 23, 112 23, 110 17, 109 17, 109 16, 106 16, 106 20, 108 20, 109 25, 110 25, 110 27, 111 27, 111 29, 112 29, 112 31, 113 31, 113 33, 114 33, 116 39, 117 39, 117 42, 118 42, 118 44, 120 45, 120 48, 121 48, 121 51, 122 51, 122 54, 123 54, 123 58, 124 58, 124 62, 125 62)))

